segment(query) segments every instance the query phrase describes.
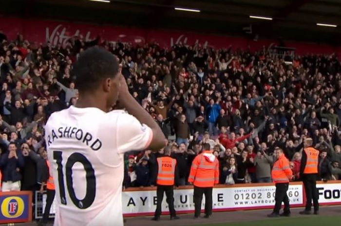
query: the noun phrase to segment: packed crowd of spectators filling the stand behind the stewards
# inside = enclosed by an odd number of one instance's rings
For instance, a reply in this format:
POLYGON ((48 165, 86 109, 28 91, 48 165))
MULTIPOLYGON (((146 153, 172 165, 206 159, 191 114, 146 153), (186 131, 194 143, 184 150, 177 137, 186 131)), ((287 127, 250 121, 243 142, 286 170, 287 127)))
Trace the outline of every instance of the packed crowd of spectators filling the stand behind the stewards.
MULTIPOLYGON (((46 178, 44 124, 76 104, 73 63, 102 46, 119 58, 130 92, 159 123, 177 159, 176 185, 186 185, 191 161, 209 143, 221 184, 271 182, 275 147, 300 180, 302 141, 320 150, 319 175, 341 175, 341 66, 335 55, 296 56, 292 64, 263 48, 212 49, 179 43, 170 50, 91 42, 38 45, 0 33, 0 169, 3 191, 38 190, 46 178), (19 186, 19 188, 18 188, 19 186), (4 190, 5 188, 5 190, 4 190)), ((132 150, 124 187, 153 186, 163 150, 132 150)))

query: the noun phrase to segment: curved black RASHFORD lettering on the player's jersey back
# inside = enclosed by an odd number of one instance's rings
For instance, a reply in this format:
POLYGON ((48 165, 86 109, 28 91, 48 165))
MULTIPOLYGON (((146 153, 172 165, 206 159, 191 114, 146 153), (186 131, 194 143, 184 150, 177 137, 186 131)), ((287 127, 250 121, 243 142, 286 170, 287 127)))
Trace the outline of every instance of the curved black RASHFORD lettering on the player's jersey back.
POLYGON ((77 139, 87 146, 89 146, 92 150, 98 151, 102 147, 102 141, 98 138, 95 139, 93 135, 89 132, 84 132, 82 129, 77 127, 67 126, 67 127, 59 127, 57 132, 52 129, 51 135, 47 136, 47 145, 50 146, 55 140, 60 138, 67 139, 77 139))

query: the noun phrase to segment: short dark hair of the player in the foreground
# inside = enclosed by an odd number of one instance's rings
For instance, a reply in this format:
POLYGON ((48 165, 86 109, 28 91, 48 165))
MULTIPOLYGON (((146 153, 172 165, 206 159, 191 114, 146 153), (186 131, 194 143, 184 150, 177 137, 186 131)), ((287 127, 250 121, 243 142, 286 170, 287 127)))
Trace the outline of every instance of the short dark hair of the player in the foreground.
POLYGON ((104 79, 117 76, 118 61, 111 52, 97 46, 91 47, 80 53, 71 73, 76 76, 80 92, 93 91, 104 79))

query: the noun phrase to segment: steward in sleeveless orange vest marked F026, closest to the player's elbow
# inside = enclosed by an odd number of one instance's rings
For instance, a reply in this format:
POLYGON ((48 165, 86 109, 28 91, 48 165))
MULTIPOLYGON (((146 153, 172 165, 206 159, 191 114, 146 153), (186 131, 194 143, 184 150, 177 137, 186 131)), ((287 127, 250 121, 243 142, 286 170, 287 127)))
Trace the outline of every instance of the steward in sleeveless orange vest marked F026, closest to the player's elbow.
POLYGON ((163 194, 166 193, 166 202, 170 209, 170 220, 177 220, 174 209, 174 179, 178 177, 176 169, 176 159, 170 157, 170 146, 164 148, 164 156, 157 158, 157 179, 156 179, 156 210, 152 221, 159 221, 161 215, 161 204, 163 200, 163 194), (176 175, 176 176, 175 176, 176 175))

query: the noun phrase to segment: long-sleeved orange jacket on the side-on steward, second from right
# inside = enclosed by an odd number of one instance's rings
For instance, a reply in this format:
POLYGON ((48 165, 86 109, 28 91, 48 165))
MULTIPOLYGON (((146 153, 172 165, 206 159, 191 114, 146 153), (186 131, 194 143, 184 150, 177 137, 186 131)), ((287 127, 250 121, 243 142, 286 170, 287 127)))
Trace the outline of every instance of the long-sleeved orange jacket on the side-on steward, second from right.
POLYGON ((289 179, 292 178, 289 160, 284 154, 273 164, 271 176, 274 183, 288 183, 289 179))

